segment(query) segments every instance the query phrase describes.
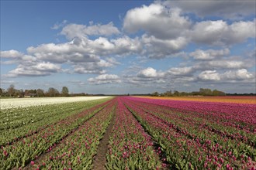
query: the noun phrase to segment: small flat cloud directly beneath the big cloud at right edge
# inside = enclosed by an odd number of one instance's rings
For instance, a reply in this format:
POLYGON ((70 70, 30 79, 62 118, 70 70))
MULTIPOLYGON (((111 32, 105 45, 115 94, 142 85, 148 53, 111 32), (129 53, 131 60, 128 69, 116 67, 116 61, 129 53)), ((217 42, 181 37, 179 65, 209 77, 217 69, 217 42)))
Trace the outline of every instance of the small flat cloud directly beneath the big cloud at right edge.
POLYGON ((202 49, 196 49, 195 52, 189 53, 189 56, 193 56, 194 59, 215 59, 216 57, 222 57, 222 56, 228 56, 230 54, 229 49, 208 49, 208 50, 202 50, 202 49))

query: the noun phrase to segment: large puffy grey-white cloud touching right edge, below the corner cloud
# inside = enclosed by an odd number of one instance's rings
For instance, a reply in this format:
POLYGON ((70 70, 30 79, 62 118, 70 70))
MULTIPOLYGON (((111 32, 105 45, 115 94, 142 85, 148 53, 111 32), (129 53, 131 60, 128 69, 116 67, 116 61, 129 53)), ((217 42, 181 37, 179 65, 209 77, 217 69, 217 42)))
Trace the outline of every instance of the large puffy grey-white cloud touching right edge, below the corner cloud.
POLYGON ((210 46, 230 46, 255 38, 255 20, 233 22, 228 25, 223 20, 197 22, 188 32, 192 42, 210 46))

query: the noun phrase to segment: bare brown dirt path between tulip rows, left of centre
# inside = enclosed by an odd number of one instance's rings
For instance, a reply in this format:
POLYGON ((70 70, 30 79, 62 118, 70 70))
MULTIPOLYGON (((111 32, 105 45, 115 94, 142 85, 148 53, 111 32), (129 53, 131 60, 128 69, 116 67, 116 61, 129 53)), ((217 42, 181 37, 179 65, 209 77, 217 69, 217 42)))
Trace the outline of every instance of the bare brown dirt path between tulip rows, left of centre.
POLYGON ((105 165, 106 165, 106 154, 108 151, 108 145, 109 145, 109 138, 110 138, 110 134, 112 131, 112 127, 114 125, 114 120, 116 117, 116 113, 113 114, 109 126, 106 129, 105 134, 103 135, 103 138, 101 139, 101 141, 99 142, 99 146, 98 146, 98 151, 97 154, 95 155, 95 158, 93 160, 93 168, 94 170, 102 170, 102 169, 106 169, 105 165))

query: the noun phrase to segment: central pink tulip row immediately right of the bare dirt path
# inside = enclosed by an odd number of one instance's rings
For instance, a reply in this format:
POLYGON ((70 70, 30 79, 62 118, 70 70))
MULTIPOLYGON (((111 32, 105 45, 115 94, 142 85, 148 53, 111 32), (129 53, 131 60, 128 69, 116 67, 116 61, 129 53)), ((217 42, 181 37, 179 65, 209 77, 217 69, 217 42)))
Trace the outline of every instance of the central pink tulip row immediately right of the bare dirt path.
POLYGON ((159 151, 154 151, 154 143, 150 136, 119 98, 106 155, 106 168, 158 169, 165 166, 161 165, 159 151))

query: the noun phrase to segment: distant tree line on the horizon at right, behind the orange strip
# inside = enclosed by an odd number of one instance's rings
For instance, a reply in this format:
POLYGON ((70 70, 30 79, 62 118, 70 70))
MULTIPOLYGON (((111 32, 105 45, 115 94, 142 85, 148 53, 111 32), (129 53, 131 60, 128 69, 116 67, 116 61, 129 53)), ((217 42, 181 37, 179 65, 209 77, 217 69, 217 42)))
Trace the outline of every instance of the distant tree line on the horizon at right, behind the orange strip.
POLYGON ((179 92, 178 90, 171 90, 166 91, 164 93, 154 92, 151 93, 150 96, 153 97, 182 97, 182 96, 226 96, 226 93, 220 90, 210 90, 210 89, 203 89, 200 88, 199 91, 192 91, 192 92, 179 92))

